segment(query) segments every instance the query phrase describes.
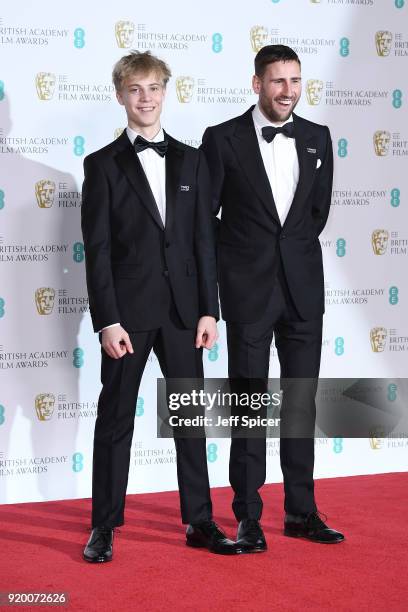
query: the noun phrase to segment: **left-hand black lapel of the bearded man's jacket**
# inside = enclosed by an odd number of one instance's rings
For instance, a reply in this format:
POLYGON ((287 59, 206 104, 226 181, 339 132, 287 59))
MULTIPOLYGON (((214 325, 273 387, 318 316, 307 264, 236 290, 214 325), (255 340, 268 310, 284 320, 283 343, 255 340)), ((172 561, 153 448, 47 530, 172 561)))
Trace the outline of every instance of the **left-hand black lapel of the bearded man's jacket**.
POLYGON ((273 199, 272 189, 266 174, 258 138, 252 119, 252 108, 240 117, 231 145, 253 190, 280 224, 279 215, 273 199))

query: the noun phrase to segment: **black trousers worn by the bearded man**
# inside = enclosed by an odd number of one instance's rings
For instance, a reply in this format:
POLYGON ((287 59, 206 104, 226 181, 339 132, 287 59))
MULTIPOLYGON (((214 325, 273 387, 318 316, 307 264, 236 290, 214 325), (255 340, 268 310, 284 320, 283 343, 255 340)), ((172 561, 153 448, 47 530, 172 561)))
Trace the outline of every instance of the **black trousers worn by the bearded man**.
MULTIPOLYGON (((251 379, 254 384, 264 381, 266 390, 270 347, 273 335, 278 352, 282 378, 316 379, 320 369, 322 317, 302 321, 289 295, 279 268, 274 289, 261 320, 256 323, 228 323, 228 374, 232 379, 251 379)), ((315 386, 312 384, 312 388, 315 386)), ((315 392, 299 402, 285 405, 281 412, 282 431, 296 429, 296 421, 309 424, 314 430, 316 418, 315 392)), ((285 511, 306 514, 316 510, 314 500, 314 438, 281 437, 280 461, 285 489, 285 511)), ((230 453, 230 483, 234 490, 232 504, 238 521, 259 520, 262 499, 259 489, 266 478, 265 438, 232 438, 230 453)))

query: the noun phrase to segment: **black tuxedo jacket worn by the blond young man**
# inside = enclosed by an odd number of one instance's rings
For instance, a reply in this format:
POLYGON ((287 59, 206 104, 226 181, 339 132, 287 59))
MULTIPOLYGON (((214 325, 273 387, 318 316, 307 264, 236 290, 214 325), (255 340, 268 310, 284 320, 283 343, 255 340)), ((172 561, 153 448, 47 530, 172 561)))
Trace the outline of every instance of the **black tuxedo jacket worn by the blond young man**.
POLYGON ((160 327, 170 284, 186 328, 218 318, 211 193, 204 154, 167 135, 166 226, 126 131, 84 160, 82 233, 95 331, 160 327), (167 290, 167 292, 166 292, 167 290))

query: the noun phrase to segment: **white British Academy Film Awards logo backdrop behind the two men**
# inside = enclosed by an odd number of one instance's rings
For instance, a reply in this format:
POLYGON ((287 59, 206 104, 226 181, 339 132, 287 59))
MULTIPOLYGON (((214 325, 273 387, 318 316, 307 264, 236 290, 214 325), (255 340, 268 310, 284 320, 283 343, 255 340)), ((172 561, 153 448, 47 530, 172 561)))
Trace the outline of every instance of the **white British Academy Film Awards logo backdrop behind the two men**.
MULTIPOLYGON (((87 312, 82 161, 126 123, 111 70, 130 48, 170 64, 163 125, 193 146, 206 126, 255 102, 258 48, 279 42, 298 51, 297 112, 329 125, 335 152, 321 238, 321 374, 406 375, 408 2, 109 4, 17 0, 0 8, 0 499, 7 503, 91 492, 100 349, 87 312)), ((221 324, 217 347, 205 354, 206 375, 226 376, 226 357, 221 324)), ((278 375, 274 348, 270 374, 278 375)), ((177 487, 173 441, 156 439, 158 376, 151 356, 135 407, 129 492, 177 487)), ((214 486, 228 484, 228 452, 228 440, 208 440, 214 486)), ((315 473, 402 471, 407 455, 406 439, 380 433, 320 439, 315 473)), ((281 480, 278 456, 279 442, 270 440, 269 482, 281 480)))

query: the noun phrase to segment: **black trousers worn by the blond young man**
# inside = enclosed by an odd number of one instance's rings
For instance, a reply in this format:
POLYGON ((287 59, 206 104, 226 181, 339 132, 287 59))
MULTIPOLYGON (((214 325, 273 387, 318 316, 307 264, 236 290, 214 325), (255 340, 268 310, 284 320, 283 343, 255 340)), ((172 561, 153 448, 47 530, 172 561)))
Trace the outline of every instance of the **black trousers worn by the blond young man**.
MULTIPOLYGON (((170 292, 169 292, 170 294, 170 292)), ((203 378, 202 349, 195 329, 185 329, 169 296, 168 315, 160 328, 130 333, 134 354, 112 359, 102 349, 102 391, 95 423, 92 526, 124 523, 130 449, 136 400, 151 349, 164 377, 203 378)), ((155 406, 151 407, 156 410, 155 406)), ((183 523, 212 518, 205 438, 175 439, 177 477, 183 523)))

